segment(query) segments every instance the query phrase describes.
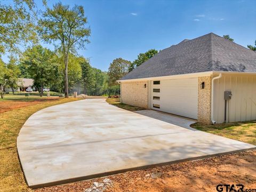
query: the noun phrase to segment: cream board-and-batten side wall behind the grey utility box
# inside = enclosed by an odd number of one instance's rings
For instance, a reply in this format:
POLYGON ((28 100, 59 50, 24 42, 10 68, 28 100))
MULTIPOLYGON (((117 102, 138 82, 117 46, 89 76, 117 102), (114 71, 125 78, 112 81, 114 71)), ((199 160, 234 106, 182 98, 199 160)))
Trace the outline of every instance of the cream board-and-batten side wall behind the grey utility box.
POLYGON ((224 91, 231 91, 227 104, 227 122, 256 119, 256 75, 226 75, 214 81, 214 120, 225 118, 224 91))

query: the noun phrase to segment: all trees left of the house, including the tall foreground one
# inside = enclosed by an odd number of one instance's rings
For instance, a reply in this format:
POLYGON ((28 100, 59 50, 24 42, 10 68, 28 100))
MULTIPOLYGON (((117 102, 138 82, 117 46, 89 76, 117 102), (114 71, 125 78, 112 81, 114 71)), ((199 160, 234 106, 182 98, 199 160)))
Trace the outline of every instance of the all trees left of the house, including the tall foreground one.
POLYGON ((93 68, 88 59, 77 55, 77 50, 90 43, 91 35, 83 6, 56 3, 50 8, 46 1, 43 3, 45 10, 36 10, 33 0, 13 1, 8 5, 0 2, 0 54, 12 55, 9 63, 0 57, 2 97, 6 87, 14 92, 20 77, 33 78, 33 87, 41 95, 44 87, 63 92, 65 97, 74 91, 89 95, 119 94, 116 81, 157 53, 149 50, 133 62, 114 59, 107 72, 93 68), (54 45, 54 51, 40 45, 41 42, 54 45))

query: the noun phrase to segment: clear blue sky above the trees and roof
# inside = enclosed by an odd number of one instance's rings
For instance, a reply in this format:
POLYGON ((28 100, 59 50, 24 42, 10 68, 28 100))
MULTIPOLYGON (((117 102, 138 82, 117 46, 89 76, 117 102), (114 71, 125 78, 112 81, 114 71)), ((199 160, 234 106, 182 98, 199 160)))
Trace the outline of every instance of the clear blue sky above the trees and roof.
MULTIPOLYGON (((35 2, 43 9, 42 1, 35 2)), ((51 6, 58 1, 47 2, 51 6)), ((254 45, 256 40, 255 0, 61 2, 84 6, 91 43, 78 53, 106 71, 115 58, 133 61, 149 49, 163 50, 211 32, 229 34, 243 46, 254 45)))

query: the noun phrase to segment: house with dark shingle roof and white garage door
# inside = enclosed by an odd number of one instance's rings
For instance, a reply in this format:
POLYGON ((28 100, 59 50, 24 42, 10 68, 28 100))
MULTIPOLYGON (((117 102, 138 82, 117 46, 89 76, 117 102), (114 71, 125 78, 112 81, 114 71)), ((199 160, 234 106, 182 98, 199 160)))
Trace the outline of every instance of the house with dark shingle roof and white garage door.
POLYGON ((204 124, 256 119, 256 52, 213 33, 160 51, 118 82, 129 105, 204 124))

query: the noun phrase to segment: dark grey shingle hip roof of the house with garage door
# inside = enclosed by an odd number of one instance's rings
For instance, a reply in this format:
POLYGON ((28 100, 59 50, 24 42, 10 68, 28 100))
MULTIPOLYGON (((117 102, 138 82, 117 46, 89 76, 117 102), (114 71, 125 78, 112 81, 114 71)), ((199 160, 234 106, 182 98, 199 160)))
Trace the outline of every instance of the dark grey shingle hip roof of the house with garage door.
POLYGON ((256 52, 210 33, 160 51, 121 80, 205 71, 256 73, 256 52))

